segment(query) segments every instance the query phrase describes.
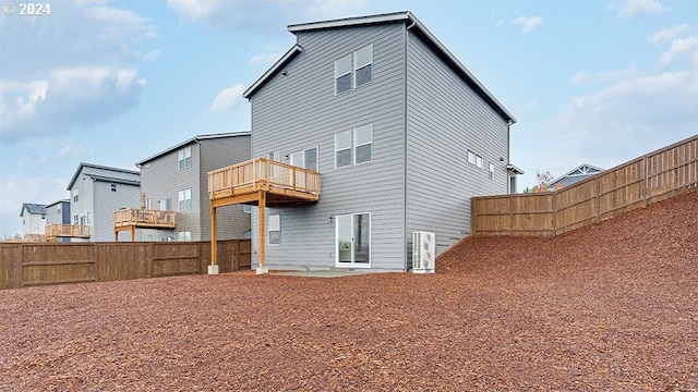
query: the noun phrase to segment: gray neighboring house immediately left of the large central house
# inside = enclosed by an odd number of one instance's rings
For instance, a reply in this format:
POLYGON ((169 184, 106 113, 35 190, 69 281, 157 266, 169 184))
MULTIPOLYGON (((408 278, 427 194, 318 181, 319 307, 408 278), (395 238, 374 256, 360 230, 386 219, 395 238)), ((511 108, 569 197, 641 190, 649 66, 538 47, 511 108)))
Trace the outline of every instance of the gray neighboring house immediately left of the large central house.
MULTIPOLYGON (((173 210, 174 230, 143 230, 142 241, 209 241, 207 173, 250 159, 250 132, 194 136, 136 162, 145 208, 173 210)), ((250 209, 230 206, 217 220, 219 238, 242 238, 250 231, 250 209), (246 211, 246 212, 245 212, 246 211)))

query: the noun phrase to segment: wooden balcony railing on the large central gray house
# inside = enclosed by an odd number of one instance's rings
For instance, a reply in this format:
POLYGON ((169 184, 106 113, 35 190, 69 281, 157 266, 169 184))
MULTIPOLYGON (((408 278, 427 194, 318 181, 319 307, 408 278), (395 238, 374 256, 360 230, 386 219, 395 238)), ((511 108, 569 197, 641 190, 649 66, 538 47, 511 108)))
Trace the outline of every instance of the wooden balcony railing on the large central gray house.
POLYGON ((254 204, 254 199, 246 200, 240 196, 258 192, 267 194, 267 206, 317 201, 320 173, 266 158, 208 172, 208 195, 213 201, 220 201, 215 205, 254 204))

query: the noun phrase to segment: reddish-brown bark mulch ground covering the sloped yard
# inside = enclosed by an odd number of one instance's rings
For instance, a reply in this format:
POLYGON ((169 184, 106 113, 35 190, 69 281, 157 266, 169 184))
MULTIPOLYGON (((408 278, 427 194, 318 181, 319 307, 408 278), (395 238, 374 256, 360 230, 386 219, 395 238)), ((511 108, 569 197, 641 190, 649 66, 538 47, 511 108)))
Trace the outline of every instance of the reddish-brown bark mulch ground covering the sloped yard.
POLYGON ((0 391, 698 391, 698 192, 430 275, 0 291, 0 391))

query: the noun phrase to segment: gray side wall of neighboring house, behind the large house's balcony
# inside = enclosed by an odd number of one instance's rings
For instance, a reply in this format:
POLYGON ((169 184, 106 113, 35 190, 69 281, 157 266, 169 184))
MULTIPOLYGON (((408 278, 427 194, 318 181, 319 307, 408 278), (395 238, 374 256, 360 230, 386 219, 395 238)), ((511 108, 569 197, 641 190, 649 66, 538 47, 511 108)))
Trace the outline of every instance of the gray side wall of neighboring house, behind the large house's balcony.
MULTIPOLYGON (((210 240, 210 199, 208 197, 208 172, 250 159, 250 136, 203 139, 200 142, 200 204, 201 233, 203 241, 210 240)), ((242 205, 218 208, 216 211, 217 240, 242 238, 250 230, 250 213, 243 211, 242 205)))

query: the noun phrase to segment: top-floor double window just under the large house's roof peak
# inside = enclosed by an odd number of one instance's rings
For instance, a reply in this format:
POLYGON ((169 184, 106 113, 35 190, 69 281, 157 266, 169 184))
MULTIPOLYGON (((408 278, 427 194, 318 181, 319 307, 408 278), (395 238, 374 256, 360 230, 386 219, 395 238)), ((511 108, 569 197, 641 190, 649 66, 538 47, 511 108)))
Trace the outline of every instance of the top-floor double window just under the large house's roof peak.
POLYGON ((335 95, 373 81, 373 44, 335 61, 335 95))

